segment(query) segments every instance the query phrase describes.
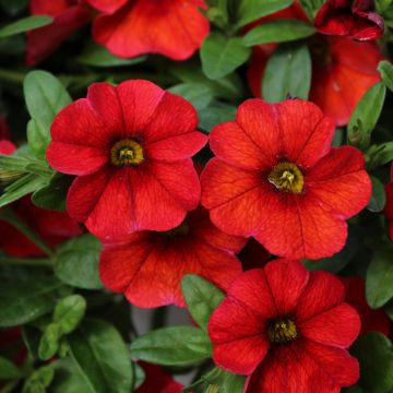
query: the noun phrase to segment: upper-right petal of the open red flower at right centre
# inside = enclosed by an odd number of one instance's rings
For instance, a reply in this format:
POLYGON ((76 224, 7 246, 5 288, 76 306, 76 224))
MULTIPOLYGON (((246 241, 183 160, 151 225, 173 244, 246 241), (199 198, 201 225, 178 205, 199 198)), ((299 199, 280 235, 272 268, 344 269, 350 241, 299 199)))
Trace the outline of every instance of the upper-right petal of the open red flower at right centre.
POLYGON ((282 155, 302 168, 312 167, 331 147, 334 123, 312 103, 289 99, 277 106, 282 155))

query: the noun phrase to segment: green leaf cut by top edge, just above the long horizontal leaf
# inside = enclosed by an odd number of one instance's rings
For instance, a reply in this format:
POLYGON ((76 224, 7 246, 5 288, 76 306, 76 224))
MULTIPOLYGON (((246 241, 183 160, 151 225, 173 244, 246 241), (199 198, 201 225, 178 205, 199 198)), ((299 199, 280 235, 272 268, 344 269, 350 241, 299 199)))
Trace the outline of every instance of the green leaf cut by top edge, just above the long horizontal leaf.
POLYGON ((237 26, 241 27, 262 16, 289 7, 294 0, 241 0, 237 26))

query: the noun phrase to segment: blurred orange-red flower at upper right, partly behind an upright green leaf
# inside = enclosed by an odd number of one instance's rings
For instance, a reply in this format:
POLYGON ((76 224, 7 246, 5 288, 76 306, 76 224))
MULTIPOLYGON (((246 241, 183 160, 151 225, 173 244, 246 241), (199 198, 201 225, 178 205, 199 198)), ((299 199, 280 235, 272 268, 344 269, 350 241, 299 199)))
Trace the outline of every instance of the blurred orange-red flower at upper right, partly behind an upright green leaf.
MULTIPOLYGON (((297 15, 293 12, 293 17, 301 19, 297 15)), ((277 13, 271 19, 281 17, 277 13)), ((380 81, 377 67, 383 57, 376 43, 317 35, 308 44, 312 60, 310 100, 337 126, 344 126, 367 90, 380 81)), ((264 69, 275 48, 271 44, 253 48, 248 80, 255 97, 261 97, 264 69)))

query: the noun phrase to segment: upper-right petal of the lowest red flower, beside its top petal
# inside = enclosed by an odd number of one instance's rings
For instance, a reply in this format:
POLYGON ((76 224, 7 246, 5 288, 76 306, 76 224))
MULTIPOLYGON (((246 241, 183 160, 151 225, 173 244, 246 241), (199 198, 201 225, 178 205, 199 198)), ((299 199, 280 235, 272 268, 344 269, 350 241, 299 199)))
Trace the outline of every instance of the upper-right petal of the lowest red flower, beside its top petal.
POLYGON ((333 274, 313 272, 299 299, 296 320, 301 322, 344 301, 345 287, 333 274))

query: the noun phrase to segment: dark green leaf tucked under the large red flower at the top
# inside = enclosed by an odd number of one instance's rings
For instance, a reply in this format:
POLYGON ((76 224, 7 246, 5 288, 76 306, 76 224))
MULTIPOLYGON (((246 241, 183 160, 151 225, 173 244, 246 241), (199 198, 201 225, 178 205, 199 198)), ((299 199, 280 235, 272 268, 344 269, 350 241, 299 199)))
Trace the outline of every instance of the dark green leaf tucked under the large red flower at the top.
POLYGON ((90 43, 78 60, 82 64, 92 67, 121 67, 141 63, 146 58, 146 56, 141 56, 133 59, 121 59, 110 53, 104 46, 90 43))

